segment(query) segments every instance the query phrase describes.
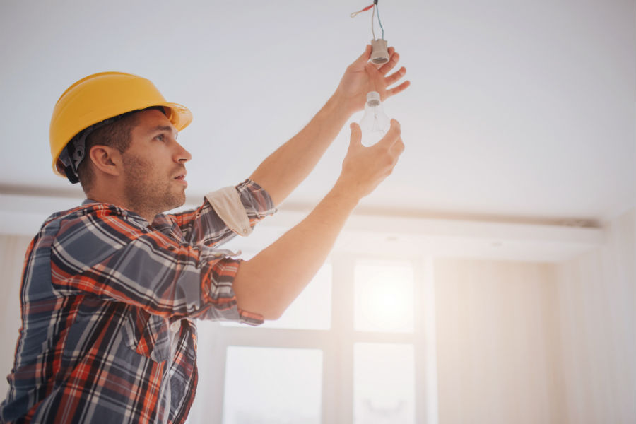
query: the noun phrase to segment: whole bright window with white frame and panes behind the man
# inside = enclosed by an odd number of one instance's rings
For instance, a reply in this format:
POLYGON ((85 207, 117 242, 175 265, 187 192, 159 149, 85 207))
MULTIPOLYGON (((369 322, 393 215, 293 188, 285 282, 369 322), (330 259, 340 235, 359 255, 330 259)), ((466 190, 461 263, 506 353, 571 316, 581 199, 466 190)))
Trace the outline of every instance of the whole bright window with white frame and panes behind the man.
POLYGON ((199 323, 189 423, 423 422, 414 264, 338 255, 277 322, 199 323))

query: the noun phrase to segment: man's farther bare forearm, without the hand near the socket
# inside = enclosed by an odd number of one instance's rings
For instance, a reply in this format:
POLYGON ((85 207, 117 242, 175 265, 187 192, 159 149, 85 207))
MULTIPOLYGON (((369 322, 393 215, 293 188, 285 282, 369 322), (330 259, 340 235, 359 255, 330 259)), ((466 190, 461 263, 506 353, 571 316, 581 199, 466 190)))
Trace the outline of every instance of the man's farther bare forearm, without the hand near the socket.
POLYGON ((281 204, 312 172, 351 111, 334 94, 304 129, 269 155, 250 176, 281 204))

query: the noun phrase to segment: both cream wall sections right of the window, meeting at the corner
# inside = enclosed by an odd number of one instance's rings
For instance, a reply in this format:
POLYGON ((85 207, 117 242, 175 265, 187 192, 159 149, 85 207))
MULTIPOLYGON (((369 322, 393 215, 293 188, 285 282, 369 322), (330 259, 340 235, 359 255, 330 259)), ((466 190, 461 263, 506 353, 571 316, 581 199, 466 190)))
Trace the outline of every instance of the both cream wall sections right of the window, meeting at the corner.
POLYGON ((435 261, 440 423, 636 422, 635 223, 560 264, 435 261))

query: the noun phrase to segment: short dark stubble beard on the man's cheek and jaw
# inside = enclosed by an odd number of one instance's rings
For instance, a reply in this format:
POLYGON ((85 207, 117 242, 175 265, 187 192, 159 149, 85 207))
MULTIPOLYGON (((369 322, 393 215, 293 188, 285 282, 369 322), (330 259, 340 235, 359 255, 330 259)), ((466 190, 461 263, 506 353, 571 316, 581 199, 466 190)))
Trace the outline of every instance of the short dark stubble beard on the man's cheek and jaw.
MULTIPOLYGON (((131 210, 140 215, 161 213, 185 203, 185 190, 173 186, 170 175, 158 175, 153 163, 136 155, 123 157, 126 172, 124 196, 131 210)), ((177 172, 175 167, 173 172, 177 172)))

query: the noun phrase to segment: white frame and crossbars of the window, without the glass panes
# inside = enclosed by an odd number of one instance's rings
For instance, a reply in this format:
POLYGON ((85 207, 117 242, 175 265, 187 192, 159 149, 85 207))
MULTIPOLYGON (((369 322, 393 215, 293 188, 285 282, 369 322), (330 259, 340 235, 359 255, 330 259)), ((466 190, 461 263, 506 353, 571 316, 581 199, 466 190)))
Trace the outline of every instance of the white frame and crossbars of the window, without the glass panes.
POLYGON ((432 259, 404 255, 379 257, 370 254, 334 253, 328 261, 332 272, 331 328, 329 330, 269 329, 224 326, 218 322, 199 322, 199 389, 189 423, 223 423, 225 361, 229 346, 322 350, 320 422, 353 423, 353 346, 355 343, 412 344, 416 374, 414 422, 437 423, 435 288, 432 259), (386 262, 409 263, 413 266, 414 328, 412 333, 384 333, 353 329, 355 264, 357 261, 379 259, 386 262), (202 337, 201 334, 204 333, 202 337), (213 360, 205 360, 206 357, 213 360), (201 378, 203 375, 204 378, 201 378))

